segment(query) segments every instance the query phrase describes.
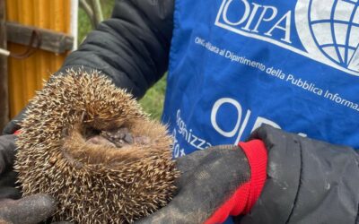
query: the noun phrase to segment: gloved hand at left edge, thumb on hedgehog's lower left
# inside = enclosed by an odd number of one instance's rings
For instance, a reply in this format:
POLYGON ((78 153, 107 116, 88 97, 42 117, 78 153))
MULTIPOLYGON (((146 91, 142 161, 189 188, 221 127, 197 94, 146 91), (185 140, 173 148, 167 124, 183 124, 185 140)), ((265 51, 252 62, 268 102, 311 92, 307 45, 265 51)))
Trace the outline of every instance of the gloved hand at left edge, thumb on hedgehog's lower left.
POLYGON ((38 223, 52 215, 56 202, 48 194, 21 198, 13 171, 15 139, 13 134, 0 136, 0 223, 38 223))

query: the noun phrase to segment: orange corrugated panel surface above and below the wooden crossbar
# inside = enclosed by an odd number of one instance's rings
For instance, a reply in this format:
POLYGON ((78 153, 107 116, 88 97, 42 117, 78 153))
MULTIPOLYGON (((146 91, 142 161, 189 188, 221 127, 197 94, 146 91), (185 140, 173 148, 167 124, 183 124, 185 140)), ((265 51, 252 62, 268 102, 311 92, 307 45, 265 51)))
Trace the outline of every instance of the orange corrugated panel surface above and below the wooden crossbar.
MULTIPOLYGON (((37 28, 74 34, 77 18, 74 19, 76 0, 6 0, 6 21, 31 25, 37 28)), ((76 14, 76 13, 75 13, 76 14)), ((77 15, 77 14, 76 14, 77 15)), ((8 42, 8 50, 24 52, 27 47, 8 42)), ((10 116, 15 116, 31 99, 36 90, 48 80, 51 73, 62 65, 67 53, 55 54, 36 50, 25 59, 9 57, 8 81, 10 116)))

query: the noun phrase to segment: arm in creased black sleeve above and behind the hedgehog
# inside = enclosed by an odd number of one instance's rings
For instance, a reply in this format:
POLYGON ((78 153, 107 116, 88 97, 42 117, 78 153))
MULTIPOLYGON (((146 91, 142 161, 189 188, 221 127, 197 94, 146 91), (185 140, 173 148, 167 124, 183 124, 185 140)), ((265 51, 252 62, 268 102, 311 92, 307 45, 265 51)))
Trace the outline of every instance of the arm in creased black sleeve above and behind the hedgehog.
MULTIPOLYGON (((101 22, 83 44, 66 57, 58 73, 96 69, 119 88, 141 98, 167 70, 173 30, 174 0, 117 0, 111 18, 101 22)), ((4 128, 20 128, 22 112, 4 128)))

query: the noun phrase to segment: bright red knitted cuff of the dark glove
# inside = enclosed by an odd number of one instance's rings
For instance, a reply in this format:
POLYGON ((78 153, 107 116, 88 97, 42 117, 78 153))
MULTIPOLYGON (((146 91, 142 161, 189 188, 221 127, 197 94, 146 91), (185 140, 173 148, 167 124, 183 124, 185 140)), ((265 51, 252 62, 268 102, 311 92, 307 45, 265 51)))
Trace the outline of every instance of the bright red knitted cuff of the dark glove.
POLYGON ((215 213, 206 220, 209 223, 223 223, 230 215, 237 216, 250 212, 257 202, 267 179, 267 149, 264 142, 252 140, 240 142, 239 146, 250 164, 250 180, 232 194, 215 213))

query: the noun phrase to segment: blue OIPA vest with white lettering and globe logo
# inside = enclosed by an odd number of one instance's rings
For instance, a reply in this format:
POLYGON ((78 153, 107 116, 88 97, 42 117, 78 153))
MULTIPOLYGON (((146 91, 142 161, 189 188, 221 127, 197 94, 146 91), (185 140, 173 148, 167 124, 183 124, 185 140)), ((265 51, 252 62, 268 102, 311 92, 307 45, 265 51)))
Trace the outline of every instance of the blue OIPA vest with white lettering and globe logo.
POLYGON ((162 120, 173 156, 266 123, 359 148, 359 1, 176 1, 162 120))

